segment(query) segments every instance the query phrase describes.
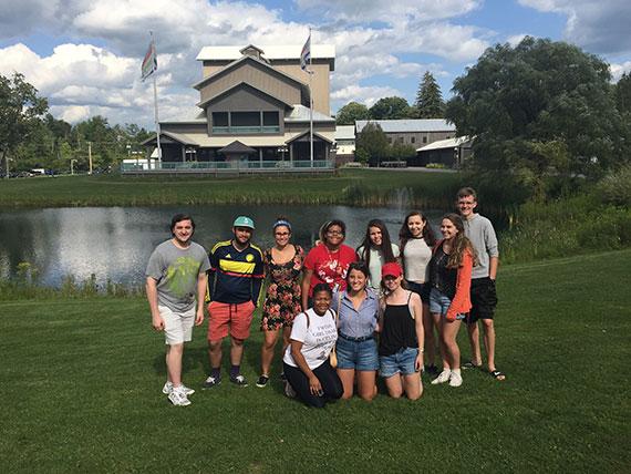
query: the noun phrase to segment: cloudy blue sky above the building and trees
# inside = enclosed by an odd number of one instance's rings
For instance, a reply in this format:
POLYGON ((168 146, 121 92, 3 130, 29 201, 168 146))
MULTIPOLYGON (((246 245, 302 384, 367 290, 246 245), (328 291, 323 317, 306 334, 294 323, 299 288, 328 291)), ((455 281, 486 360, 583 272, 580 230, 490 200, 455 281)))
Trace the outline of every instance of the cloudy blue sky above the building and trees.
POLYGON ((159 118, 194 117, 206 45, 335 47, 331 113, 399 95, 414 102, 430 71, 448 99, 486 48, 525 35, 568 41, 631 71, 629 0, 0 0, 0 74, 24 74, 70 123, 154 128, 141 63, 154 31, 159 118))

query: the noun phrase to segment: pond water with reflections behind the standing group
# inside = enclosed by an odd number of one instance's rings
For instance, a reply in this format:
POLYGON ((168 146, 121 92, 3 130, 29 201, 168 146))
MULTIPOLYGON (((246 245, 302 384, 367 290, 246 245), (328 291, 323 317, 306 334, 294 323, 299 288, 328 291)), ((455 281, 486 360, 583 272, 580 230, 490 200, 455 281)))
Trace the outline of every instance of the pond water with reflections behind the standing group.
MULTIPOLYGON (((188 207, 87 207, 28 209, 0 213, 0 277, 15 274, 18 264, 28 261, 41 275, 44 285, 59 286, 64 276, 77 280, 95 275, 103 285, 107 279, 121 284, 144 281, 146 261, 161 241, 169 237, 170 217, 190 213, 196 220, 195 240, 210 248, 230 238, 236 216, 255 219, 255 243, 272 244, 271 225, 278 215, 293 224, 293 239, 310 248, 320 225, 339 218, 346 223, 346 244, 356 247, 372 218, 385 221, 393 241, 408 209, 354 208, 348 206, 188 206, 188 207)), ((430 213, 437 221, 439 213, 430 213)))

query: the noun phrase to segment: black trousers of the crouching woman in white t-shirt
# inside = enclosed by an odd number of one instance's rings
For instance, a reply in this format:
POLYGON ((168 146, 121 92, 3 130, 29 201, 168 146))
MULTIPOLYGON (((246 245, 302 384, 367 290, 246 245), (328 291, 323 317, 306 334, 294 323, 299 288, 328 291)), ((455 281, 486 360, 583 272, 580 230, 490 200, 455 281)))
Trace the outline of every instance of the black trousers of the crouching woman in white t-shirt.
POLYGON ((302 370, 297 367, 289 365, 286 362, 282 363, 282 368, 285 370, 287 381, 296 391, 298 398, 308 405, 321 409, 327 402, 334 402, 344 393, 342 381, 338 377, 335 369, 333 369, 329 363, 329 359, 327 359, 319 368, 313 369, 313 373, 320 381, 322 391, 324 392, 322 396, 311 393, 311 390, 309 389, 309 379, 302 370))

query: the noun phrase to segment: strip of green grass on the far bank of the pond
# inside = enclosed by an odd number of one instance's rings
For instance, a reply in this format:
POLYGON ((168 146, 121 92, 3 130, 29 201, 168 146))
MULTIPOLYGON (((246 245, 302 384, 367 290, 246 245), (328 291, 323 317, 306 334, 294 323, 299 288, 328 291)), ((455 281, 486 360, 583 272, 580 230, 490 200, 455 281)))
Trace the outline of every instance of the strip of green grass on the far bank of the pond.
POLYGON ((402 187, 412 202, 449 207, 455 173, 348 169, 328 177, 133 177, 120 175, 0 179, 0 207, 152 206, 195 204, 383 205, 402 187), (394 194, 393 194, 394 193, 394 194))

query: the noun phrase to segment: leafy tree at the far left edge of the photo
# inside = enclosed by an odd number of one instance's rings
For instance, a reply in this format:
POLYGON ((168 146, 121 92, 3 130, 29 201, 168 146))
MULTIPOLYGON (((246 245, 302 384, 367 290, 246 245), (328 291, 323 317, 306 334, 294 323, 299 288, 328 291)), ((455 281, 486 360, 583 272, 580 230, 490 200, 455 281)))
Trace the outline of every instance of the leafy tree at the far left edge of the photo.
POLYGON ((0 162, 4 159, 6 171, 10 155, 29 140, 46 111, 48 101, 38 95, 38 90, 22 74, 0 75, 0 162))

